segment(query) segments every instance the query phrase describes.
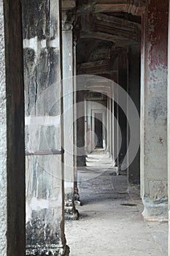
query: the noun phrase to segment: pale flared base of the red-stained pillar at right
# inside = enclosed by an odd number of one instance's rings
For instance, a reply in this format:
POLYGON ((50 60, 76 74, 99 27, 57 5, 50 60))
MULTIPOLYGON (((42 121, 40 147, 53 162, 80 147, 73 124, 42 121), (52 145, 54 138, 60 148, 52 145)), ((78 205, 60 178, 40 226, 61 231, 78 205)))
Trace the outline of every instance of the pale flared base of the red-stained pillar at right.
POLYGON ((152 201, 150 199, 142 199, 144 211, 142 215, 144 220, 150 222, 168 221, 168 200, 152 201))

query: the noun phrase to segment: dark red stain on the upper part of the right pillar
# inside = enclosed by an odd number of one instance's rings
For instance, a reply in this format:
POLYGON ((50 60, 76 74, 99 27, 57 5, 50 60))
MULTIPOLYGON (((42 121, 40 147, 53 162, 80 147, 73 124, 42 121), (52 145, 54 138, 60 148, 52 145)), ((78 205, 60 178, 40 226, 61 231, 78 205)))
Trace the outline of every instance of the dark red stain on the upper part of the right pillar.
POLYGON ((157 69, 167 69, 167 56, 168 56, 168 1, 162 1, 155 6, 154 3, 149 7, 149 67, 150 71, 157 69), (159 15, 158 15, 159 12, 159 15))

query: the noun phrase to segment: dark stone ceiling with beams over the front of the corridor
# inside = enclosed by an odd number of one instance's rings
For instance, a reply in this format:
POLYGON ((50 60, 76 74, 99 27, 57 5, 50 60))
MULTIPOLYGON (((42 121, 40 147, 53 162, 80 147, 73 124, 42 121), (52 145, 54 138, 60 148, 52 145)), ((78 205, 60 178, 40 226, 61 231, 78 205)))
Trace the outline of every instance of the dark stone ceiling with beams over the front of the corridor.
POLYGON ((62 4, 68 20, 74 16, 80 73, 88 72, 87 67, 94 74, 108 69, 117 48, 140 47, 144 0, 63 0, 62 4))

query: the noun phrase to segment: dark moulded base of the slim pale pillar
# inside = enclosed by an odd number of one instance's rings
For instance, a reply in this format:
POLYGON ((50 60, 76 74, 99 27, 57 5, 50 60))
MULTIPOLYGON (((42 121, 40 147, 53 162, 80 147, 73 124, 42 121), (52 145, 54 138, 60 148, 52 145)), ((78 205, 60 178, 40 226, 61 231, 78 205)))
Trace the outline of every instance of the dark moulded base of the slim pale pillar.
POLYGON ((79 219, 79 212, 74 206, 72 200, 65 201, 64 206, 64 219, 66 220, 77 220, 79 219))

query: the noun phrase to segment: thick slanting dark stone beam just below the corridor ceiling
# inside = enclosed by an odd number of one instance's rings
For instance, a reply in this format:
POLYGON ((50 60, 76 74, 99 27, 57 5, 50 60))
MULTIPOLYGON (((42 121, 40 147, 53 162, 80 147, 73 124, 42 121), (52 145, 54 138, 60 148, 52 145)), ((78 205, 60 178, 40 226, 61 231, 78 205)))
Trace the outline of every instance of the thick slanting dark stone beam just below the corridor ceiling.
POLYGON ((97 38, 115 45, 139 44, 141 25, 123 18, 100 13, 83 15, 81 20, 81 38, 97 38))

